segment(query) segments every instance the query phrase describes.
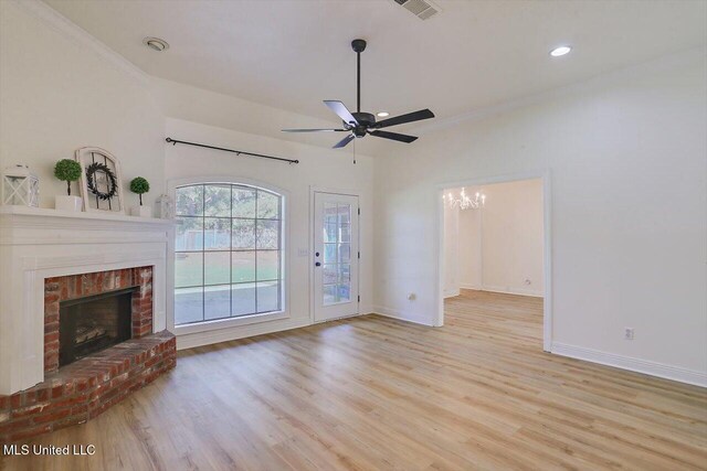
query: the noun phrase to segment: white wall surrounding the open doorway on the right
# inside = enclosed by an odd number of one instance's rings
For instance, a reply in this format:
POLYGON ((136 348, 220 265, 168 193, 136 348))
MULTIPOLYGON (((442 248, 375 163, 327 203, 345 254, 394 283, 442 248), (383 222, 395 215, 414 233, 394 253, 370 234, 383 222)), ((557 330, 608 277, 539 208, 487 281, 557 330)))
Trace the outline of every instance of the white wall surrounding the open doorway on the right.
POLYGON ((553 350, 707 384, 705 57, 598 77, 377 160, 378 309, 435 321, 439 185, 547 169, 553 350))

